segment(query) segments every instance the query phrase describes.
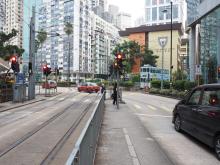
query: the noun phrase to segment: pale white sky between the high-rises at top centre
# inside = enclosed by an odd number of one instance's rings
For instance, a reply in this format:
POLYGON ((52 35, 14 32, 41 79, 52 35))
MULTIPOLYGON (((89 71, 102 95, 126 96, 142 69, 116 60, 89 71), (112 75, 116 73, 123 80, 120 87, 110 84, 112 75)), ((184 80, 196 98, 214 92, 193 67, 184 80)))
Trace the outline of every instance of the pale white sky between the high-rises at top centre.
POLYGON ((108 4, 119 7, 120 12, 126 12, 132 15, 132 20, 144 17, 145 0, 107 0, 108 4))

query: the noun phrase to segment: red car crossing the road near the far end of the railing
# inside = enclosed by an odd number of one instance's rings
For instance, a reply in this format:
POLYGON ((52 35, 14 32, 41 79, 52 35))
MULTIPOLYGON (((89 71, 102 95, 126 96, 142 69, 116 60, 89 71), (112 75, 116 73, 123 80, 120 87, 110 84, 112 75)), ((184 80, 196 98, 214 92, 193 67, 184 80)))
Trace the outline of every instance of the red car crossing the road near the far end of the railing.
POLYGON ((79 92, 98 92, 100 90, 100 87, 96 83, 90 83, 90 82, 85 82, 82 83, 78 86, 78 91, 79 92))

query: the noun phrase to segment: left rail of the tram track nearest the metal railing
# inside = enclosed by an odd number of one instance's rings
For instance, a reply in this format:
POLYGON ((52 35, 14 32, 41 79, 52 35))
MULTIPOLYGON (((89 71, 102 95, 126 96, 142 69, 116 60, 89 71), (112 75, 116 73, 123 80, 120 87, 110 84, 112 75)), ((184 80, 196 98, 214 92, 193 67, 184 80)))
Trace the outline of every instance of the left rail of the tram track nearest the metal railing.
MULTIPOLYGON (((89 94, 88 94, 89 95, 89 94)), ((81 101, 86 98, 88 95, 84 96, 81 101)), ((17 146, 19 146, 20 144, 22 144, 23 142, 25 142, 27 139, 29 139, 30 137, 32 137, 34 134, 36 134, 37 132, 39 132, 41 129, 43 129, 44 127, 46 127, 47 125, 49 125, 51 122, 53 122, 54 120, 56 120, 58 117, 60 117, 61 115, 63 115, 65 112, 67 112, 72 106, 74 106, 76 104, 76 102, 74 102, 73 104, 69 105, 68 107, 66 107, 63 111, 57 113, 56 115, 52 116, 50 119, 48 119, 47 121, 43 122, 41 125, 39 125, 38 127, 36 127, 35 129, 33 129, 32 131, 28 132, 26 135, 24 135, 23 137, 21 137, 19 140, 15 141, 13 144, 11 144, 10 146, 6 147, 5 149, 3 149, 2 151, 0 151, 0 157, 3 157, 4 155, 6 155, 8 152, 10 152, 11 150, 15 149, 17 146)))

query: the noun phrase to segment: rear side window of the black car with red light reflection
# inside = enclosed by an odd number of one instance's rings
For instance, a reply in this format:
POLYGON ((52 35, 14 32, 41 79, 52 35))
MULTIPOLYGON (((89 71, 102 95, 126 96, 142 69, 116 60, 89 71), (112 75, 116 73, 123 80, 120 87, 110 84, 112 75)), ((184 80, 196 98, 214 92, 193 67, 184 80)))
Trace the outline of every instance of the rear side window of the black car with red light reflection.
POLYGON ((220 107, 220 89, 205 89, 202 97, 202 105, 220 107))

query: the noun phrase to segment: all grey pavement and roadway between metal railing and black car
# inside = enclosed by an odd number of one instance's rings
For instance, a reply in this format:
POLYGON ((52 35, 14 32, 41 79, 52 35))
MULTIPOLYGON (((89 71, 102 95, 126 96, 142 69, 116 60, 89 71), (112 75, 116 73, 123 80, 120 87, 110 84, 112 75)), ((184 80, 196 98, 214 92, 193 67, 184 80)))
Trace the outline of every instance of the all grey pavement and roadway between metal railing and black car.
POLYGON ((179 100, 132 92, 124 92, 123 100, 119 110, 107 101, 96 165, 132 165, 132 159, 140 165, 219 164, 212 149, 174 130, 172 110, 179 100), (136 156, 129 154, 126 136, 136 156))

